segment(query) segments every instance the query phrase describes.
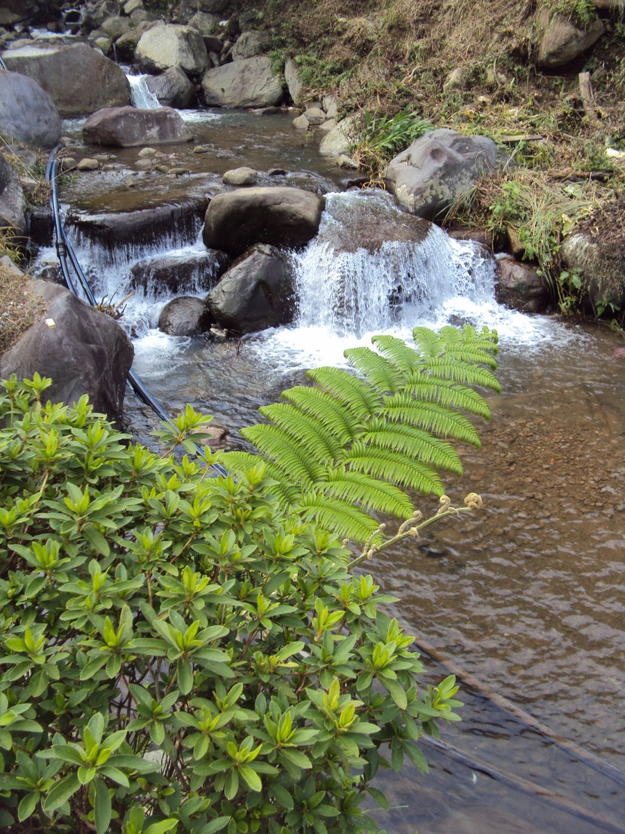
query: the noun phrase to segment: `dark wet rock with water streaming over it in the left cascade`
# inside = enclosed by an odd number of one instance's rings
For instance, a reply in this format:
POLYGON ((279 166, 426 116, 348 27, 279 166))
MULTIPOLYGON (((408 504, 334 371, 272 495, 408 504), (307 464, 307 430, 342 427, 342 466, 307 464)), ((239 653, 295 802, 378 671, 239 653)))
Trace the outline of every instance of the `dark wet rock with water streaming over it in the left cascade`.
POLYGON ((203 294, 213 289, 228 264, 225 252, 182 249, 179 254, 157 255, 133 264, 131 283, 145 294, 203 294))

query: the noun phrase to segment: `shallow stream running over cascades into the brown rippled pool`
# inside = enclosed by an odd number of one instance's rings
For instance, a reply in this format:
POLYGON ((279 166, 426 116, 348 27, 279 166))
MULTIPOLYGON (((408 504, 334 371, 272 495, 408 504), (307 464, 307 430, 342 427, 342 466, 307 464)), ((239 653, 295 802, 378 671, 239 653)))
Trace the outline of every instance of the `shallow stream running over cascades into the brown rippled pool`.
MULTIPOLYGON (((503 393, 488 396, 493 419, 478 425, 482 450, 461 449, 463 478, 446 480, 454 504, 476 491, 483 510, 430 528, 418 544, 404 542, 365 570, 399 597, 394 614, 409 633, 552 731, 625 770, 622 339, 608 329, 502 308, 493 294, 493 260, 440 229, 420 244, 368 251, 363 210, 372 226, 396 224, 401 213, 387 194, 344 191, 346 173, 319 155, 311 133, 293 130, 292 114, 181 113, 197 142, 161 150, 188 173, 148 172, 137 165, 139 148, 107 148, 106 175, 83 174, 63 189, 63 203, 84 216, 203 197, 223 189, 228 168, 247 164, 285 169, 279 182, 263 173, 259 184, 313 188, 327 194, 327 209, 318 238, 291 255, 296 324, 240 344, 171 337, 156 329, 167 296, 148 288, 130 299, 122 319, 133 334, 134 369, 168 410, 189 401, 214 414, 236 444, 237 427, 256 422, 259 405, 299 384, 309 367, 343 364, 343 349, 370 344, 372 333, 408 339, 415 324, 497 328, 503 393), (193 153, 198 144, 204 153, 193 153), (354 245, 346 248, 348 239, 354 245)), ((81 124, 67 121, 64 132, 78 138, 81 124)), ((122 298, 138 259, 203 249, 201 222, 114 251, 87 234, 72 235, 71 221, 67 231, 98 297, 122 298)), ((193 280, 180 294, 205 292, 193 280)), ((130 395, 127 406, 131 423, 145 430, 149 421, 130 395)), ((418 506, 430 513, 435 501, 419 498, 418 506)), ((426 682, 447 674, 425 661, 426 682)), ((463 721, 443 728, 443 740, 622 824, 622 787, 477 692, 463 687, 462 700, 463 721)), ((609 830, 428 746, 424 752, 429 776, 406 766, 376 782, 392 810, 373 813, 394 834, 609 830)))

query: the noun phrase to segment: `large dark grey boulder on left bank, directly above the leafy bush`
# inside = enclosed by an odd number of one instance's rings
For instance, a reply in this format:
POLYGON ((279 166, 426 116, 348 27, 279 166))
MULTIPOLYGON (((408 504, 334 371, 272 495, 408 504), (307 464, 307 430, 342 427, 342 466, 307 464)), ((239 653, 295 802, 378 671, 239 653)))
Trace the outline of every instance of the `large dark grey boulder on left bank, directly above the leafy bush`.
POLYGON ((2 356, 0 376, 49 376, 46 397, 52 402, 72 404, 88 394, 96 411, 119 420, 133 364, 132 342, 110 316, 67 289, 38 280, 35 289, 48 302, 46 313, 2 356))

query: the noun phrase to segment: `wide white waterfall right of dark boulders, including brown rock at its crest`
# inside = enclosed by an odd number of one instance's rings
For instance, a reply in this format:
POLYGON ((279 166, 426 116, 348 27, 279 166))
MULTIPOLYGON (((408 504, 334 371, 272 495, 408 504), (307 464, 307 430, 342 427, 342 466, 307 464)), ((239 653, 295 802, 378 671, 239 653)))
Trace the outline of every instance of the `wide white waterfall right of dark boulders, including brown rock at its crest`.
POLYGON ((339 336, 432 320, 455 299, 494 301, 491 254, 408 218, 386 193, 328 194, 318 237, 292 261, 299 326, 339 336))

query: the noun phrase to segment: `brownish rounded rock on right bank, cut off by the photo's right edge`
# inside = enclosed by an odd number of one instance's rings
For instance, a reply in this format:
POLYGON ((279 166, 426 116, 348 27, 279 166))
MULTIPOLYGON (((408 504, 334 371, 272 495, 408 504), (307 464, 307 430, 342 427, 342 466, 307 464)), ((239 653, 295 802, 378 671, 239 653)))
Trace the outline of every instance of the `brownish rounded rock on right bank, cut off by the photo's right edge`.
POLYGON ((582 280, 582 293, 592 308, 612 303, 625 309, 625 248, 622 229, 609 229, 597 236, 577 232, 560 249, 562 264, 582 280))

